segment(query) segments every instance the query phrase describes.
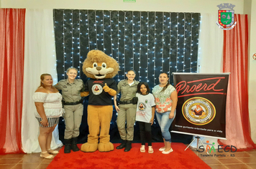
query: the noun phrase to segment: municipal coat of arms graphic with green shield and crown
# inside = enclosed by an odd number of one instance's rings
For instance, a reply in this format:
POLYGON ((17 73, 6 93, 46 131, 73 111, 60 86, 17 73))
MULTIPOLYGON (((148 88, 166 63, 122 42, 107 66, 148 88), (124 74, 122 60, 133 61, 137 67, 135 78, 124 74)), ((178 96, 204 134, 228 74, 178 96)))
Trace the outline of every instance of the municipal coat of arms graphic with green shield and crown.
POLYGON ((219 28, 230 30, 233 29, 237 24, 237 21, 234 22, 234 6, 235 5, 228 3, 218 5, 218 21, 216 21, 216 24, 219 26, 219 28))

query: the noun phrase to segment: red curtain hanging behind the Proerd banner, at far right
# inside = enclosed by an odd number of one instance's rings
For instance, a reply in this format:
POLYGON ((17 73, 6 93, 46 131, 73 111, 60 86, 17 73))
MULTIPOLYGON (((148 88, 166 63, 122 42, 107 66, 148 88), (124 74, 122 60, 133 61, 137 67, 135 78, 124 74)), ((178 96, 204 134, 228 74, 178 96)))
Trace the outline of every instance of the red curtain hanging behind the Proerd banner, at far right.
POLYGON ((224 30, 223 72, 231 72, 227 92, 226 135, 220 145, 233 145, 237 150, 250 150, 255 144, 250 137, 248 110, 248 20, 235 14, 237 25, 224 30))

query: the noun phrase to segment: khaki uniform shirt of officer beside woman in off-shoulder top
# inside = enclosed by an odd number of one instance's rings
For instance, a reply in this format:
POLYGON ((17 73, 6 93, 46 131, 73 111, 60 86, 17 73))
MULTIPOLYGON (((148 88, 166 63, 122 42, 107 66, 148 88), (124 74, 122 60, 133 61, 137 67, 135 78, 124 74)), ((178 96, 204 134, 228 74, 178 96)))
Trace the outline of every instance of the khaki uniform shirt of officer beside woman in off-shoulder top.
POLYGON ((73 83, 68 79, 62 79, 54 86, 57 90, 62 91, 63 100, 65 102, 78 102, 81 100, 81 92, 84 92, 84 84, 82 79, 75 79, 73 83))

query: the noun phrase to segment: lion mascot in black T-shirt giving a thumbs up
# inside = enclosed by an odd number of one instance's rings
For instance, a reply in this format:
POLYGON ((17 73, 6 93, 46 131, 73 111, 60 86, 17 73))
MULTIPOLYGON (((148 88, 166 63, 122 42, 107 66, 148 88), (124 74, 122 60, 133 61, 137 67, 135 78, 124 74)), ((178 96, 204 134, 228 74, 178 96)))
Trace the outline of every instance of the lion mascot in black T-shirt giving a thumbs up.
POLYGON ((91 78, 86 82, 86 92, 81 92, 82 97, 89 95, 89 135, 87 143, 81 146, 83 152, 114 150, 114 145, 109 141, 109 127, 113 113, 111 97, 116 95, 117 83, 111 78, 118 71, 116 60, 99 50, 88 52, 83 62, 83 73, 91 78))

